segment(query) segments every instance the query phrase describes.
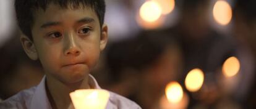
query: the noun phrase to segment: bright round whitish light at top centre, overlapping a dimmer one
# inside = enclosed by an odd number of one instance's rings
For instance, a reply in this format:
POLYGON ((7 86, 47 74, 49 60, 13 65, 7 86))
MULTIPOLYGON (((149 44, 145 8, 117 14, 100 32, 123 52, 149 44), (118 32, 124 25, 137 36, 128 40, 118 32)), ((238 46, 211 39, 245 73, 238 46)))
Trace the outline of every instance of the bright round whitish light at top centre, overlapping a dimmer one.
POLYGON ((140 7, 140 17, 146 22, 155 22, 161 16, 161 7, 155 1, 147 1, 140 7))

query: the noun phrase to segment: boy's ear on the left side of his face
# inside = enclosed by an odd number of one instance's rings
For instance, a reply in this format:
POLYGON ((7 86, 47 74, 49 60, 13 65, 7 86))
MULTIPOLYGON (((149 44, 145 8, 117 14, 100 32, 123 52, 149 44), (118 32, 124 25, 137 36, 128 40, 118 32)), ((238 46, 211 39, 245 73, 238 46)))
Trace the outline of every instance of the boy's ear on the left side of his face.
POLYGON ((33 43, 33 41, 31 41, 31 39, 28 38, 28 36, 21 34, 20 42, 22 43, 22 47, 25 50, 28 57, 32 60, 37 60, 38 55, 37 55, 35 44, 33 43))

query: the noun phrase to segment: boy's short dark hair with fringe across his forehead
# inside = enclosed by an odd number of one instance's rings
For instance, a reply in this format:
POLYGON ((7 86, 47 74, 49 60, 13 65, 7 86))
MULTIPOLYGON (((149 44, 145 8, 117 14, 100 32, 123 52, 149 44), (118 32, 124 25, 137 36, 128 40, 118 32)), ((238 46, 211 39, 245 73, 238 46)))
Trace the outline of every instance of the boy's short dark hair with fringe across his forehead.
POLYGON ((23 34, 32 39, 32 26, 34 21, 34 12, 36 9, 46 10, 48 5, 54 3, 64 9, 78 8, 81 4, 83 7, 91 7, 100 20, 100 26, 103 25, 105 17, 105 0, 15 0, 15 12, 17 22, 23 34))

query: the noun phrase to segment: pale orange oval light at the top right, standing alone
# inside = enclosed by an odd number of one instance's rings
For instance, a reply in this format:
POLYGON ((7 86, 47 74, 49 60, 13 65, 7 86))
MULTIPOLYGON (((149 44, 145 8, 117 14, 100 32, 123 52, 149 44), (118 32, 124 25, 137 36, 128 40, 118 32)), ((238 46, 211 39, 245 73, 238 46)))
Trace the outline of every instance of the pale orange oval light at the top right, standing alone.
POLYGON ((213 17, 220 25, 228 25, 232 18, 232 9, 228 2, 217 1, 213 7, 213 17))

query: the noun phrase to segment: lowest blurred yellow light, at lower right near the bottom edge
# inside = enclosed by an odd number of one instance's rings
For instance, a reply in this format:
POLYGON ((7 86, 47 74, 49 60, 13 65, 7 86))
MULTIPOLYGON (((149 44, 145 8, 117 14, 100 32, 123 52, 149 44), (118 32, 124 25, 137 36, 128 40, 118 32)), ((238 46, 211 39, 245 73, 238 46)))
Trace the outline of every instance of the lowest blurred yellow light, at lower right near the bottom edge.
POLYGON ((183 97, 183 90, 179 83, 171 82, 167 84, 165 94, 169 102, 178 103, 183 97))

